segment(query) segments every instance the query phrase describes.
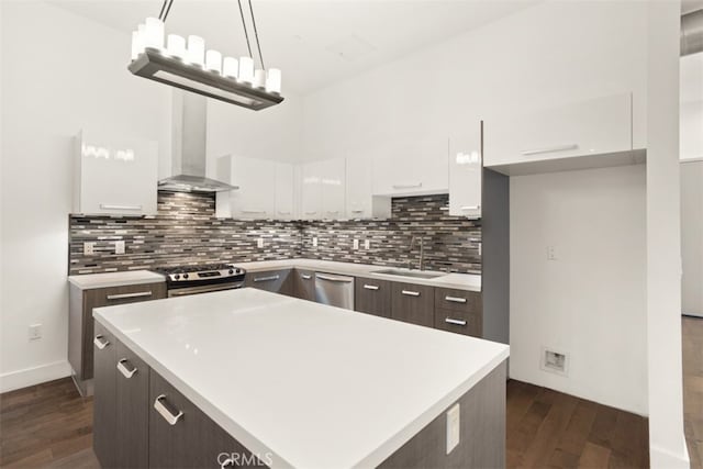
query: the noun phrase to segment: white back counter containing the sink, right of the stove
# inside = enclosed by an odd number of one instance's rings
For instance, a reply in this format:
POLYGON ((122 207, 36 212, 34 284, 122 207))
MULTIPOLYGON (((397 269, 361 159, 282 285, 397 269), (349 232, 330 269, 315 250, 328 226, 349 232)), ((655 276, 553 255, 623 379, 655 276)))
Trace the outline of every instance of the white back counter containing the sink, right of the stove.
POLYGON ((481 276, 476 273, 445 273, 442 277, 432 279, 420 279, 375 272, 376 270, 390 269, 391 267, 373 266, 370 264, 336 263, 332 260, 317 259, 263 260, 255 263, 233 263, 233 265, 246 269, 247 272, 289 269, 297 267, 301 269, 324 271, 328 273, 393 280, 404 283, 426 284, 431 287, 455 288, 458 290, 481 291, 481 276))

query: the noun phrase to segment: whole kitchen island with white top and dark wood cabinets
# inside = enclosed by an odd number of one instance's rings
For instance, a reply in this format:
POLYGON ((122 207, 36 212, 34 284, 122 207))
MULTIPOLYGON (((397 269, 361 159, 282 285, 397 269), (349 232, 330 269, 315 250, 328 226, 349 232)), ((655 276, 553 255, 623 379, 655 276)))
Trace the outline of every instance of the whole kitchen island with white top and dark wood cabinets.
POLYGON ((93 311, 103 467, 504 466, 505 345, 248 288, 93 311))

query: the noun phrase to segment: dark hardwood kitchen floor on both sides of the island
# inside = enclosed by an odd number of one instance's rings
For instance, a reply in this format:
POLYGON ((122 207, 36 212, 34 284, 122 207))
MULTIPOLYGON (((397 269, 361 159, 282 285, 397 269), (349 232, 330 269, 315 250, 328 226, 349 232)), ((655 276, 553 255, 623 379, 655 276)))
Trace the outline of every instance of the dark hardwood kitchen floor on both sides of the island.
MULTIPOLYGON (((70 379, 0 395, 0 466, 96 468, 92 400, 70 379)), ((647 420, 549 389, 507 383, 507 467, 648 467, 647 420)))

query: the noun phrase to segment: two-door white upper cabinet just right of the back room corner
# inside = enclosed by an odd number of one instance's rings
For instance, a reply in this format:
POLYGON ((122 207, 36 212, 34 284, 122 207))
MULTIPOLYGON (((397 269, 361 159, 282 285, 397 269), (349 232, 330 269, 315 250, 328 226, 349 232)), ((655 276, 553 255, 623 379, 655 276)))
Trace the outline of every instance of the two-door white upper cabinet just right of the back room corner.
POLYGON ((303 220, 345 216, 345 159, 324 159, 302 165, 301 217, 303 220))

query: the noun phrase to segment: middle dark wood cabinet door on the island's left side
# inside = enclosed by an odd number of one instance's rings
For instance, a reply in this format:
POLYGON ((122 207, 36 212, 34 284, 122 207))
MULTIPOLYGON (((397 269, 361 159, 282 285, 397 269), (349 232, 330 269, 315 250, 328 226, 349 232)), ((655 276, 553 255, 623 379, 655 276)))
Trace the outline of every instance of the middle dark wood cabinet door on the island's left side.
POLYGON ((118 466, 147 468, 149 462, 149 367, 116 343, 118 466))

